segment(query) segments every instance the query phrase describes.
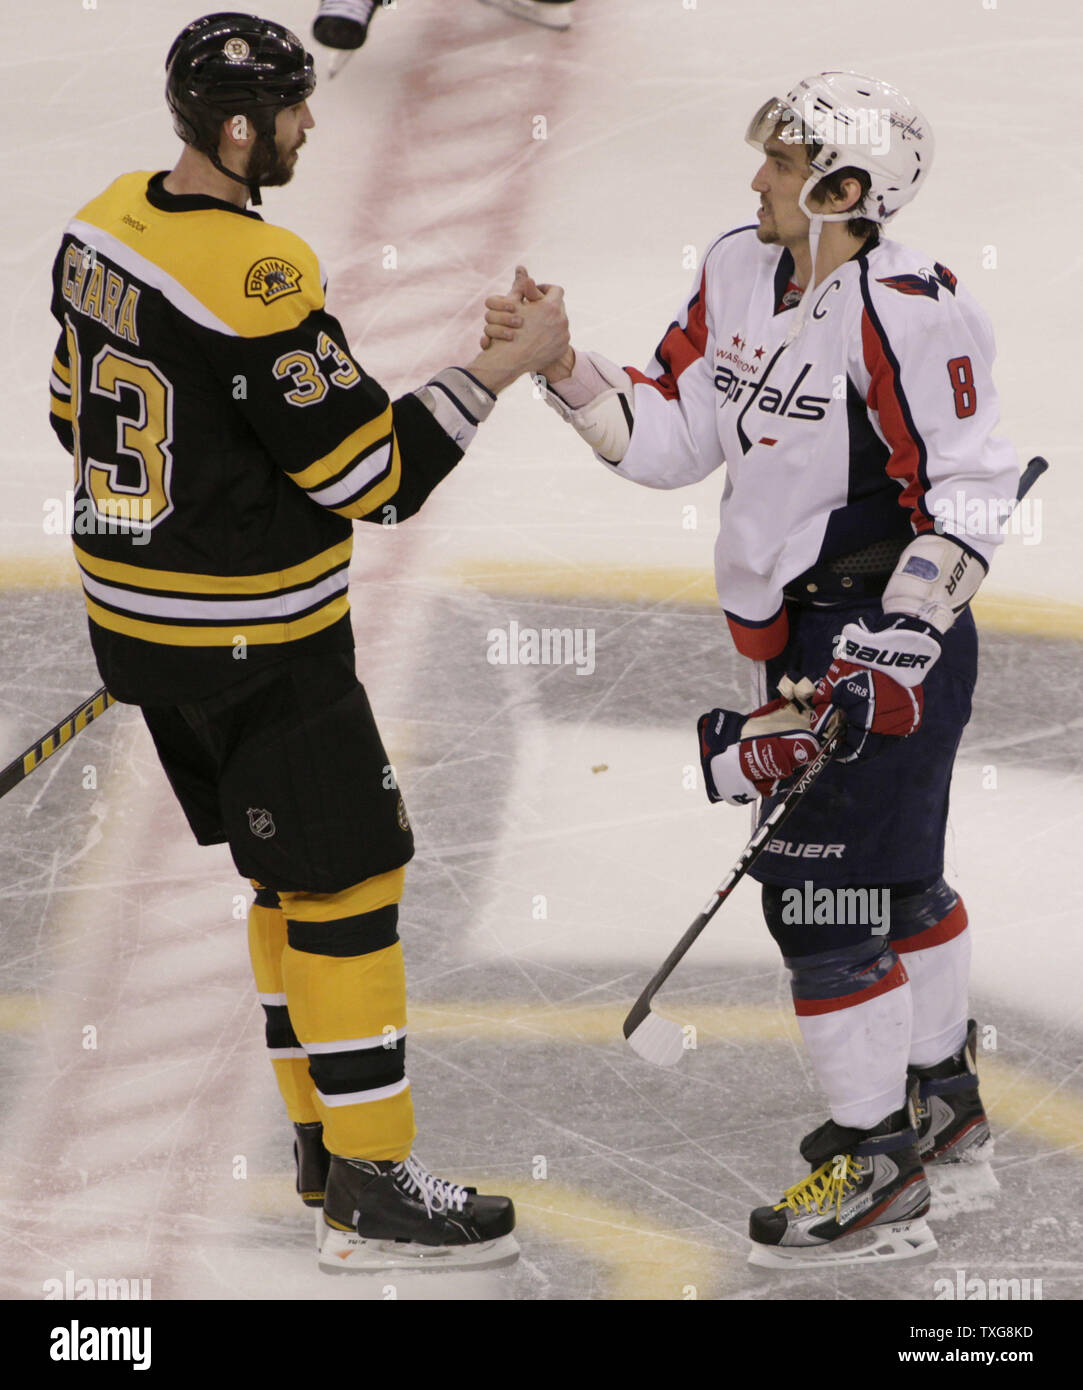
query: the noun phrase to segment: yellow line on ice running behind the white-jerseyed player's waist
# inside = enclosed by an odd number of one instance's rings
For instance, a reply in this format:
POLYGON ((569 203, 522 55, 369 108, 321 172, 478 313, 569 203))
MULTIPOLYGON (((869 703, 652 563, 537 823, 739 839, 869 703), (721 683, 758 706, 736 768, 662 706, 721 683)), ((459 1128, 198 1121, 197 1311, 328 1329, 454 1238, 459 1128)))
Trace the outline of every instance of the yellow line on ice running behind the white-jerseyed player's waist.
MULTIPOLYGON (((589 603, 684 603, 717 610, 715 578, 708 570, 680 566, 523 564, 471 560, 448 577, 470 588, 510 598, 580 599, 589 603)), ((990 632, 1083 638, 1083 603, 979 594, 975 617, 990 632)))

